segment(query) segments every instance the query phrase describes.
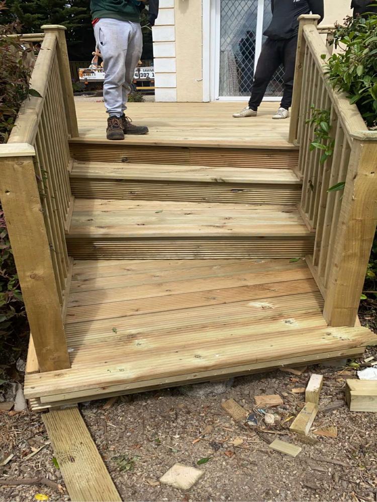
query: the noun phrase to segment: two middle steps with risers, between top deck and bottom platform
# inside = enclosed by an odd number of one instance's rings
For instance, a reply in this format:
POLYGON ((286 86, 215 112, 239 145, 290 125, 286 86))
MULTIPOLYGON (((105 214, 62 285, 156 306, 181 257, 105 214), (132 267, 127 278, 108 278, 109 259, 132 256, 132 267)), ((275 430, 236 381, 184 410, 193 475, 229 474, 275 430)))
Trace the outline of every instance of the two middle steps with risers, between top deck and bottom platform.
POLYGON ((313 250, 296 207, 301 182, 278 165, 75 162, 70 182, 67 243, 76 259, 294 258, 313 250))

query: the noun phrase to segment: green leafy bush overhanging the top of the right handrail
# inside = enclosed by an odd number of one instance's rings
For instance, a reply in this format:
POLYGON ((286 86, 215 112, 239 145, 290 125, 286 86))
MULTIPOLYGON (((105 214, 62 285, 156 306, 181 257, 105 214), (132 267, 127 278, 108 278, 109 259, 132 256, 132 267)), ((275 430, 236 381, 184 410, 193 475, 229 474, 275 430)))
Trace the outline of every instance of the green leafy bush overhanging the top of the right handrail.
POLYGON ((336 25, 334 44, 344 44, 328 61, 328 76, 356 103, 370 128, 377 126, 377 15, 347 17, 336 25))

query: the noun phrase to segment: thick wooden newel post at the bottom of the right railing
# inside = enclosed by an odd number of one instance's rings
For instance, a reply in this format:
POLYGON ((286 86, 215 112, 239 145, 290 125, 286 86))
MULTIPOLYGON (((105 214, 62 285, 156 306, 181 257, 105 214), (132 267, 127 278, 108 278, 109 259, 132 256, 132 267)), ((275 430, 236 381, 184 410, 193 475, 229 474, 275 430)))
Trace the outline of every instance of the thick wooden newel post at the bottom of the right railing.
POLYGON ((330 326, 354 326, 377 222, 377 132, 353 143, 323 315, 330 326))

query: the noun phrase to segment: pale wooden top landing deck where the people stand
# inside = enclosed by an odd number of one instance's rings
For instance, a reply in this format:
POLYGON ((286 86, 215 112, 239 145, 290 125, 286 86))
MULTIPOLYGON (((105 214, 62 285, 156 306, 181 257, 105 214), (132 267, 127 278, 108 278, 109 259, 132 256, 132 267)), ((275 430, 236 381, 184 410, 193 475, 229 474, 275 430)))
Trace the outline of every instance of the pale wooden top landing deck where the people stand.
MULTIPOLYGON (((76 100, 79 138, 71 143, 122 143, 106 139, 103 102, 76 100)), ((296 150, 288 142, 289 119, 272 120, 277 102, 261 104, 257 117, 233 118, 245 102, 129 103, 134 123, 149 128, 147 136, 128 136, 132 145, 296 150)))

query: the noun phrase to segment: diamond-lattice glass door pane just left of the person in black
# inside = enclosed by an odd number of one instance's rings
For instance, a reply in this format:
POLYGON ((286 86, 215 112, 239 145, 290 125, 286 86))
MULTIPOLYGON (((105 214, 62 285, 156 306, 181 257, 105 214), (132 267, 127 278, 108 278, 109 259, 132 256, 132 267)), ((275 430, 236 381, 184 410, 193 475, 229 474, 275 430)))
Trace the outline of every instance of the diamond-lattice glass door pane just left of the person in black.
POLYGON ((248 96, 254 76, 258 0, 221 0, 220 96, 248 96))

